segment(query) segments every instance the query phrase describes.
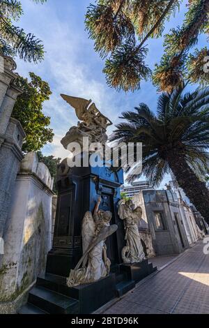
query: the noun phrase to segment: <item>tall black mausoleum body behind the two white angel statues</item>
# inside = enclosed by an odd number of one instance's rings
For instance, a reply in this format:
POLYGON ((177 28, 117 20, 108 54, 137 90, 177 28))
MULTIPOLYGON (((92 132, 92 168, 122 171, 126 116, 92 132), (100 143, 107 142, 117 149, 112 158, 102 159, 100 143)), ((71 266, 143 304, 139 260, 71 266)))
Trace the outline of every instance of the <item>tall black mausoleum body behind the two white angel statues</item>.
POLYGON ((47 272, 68 276, 82 257, 82 220, 86 211, 93 211, 101 195, 100 209, 113 214, 111 224, 118 230, 107 239, 107 256, 111 264, 121 263, 124 246, 123 221, 118 218, 116 204, 120 199, 123 170, 113 172, 109 167, 59 166, 58 200, 53 248, 47 258, 47 272))

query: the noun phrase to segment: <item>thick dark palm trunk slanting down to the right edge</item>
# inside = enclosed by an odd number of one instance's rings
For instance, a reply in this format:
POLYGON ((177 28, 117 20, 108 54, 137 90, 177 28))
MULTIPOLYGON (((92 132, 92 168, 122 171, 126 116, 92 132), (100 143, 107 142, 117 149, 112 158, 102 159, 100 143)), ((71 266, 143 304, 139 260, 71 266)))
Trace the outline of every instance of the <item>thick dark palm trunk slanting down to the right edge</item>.
POLYGON ((183 156, 169 156, 168 161, 178 185, 209 224, 209 190, 206 184, 194 174, 183 156))

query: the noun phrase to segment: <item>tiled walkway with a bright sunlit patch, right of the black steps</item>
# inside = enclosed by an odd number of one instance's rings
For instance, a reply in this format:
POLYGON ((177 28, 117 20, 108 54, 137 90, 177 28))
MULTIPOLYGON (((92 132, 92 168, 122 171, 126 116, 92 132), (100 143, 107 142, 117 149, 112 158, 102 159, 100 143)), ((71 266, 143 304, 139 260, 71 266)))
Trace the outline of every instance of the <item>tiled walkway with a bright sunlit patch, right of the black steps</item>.
POLYGON ((199 241, 104 313, 209 313, 209 255, 203 246, 199 241))

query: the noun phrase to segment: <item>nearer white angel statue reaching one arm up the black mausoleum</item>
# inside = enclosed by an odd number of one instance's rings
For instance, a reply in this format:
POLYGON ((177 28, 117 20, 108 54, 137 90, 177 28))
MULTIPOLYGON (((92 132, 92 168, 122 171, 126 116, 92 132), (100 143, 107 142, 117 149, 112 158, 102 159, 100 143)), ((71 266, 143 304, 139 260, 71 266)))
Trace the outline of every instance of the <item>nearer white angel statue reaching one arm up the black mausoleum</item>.
POLYGON ((82 221, 83 256, 75 269, 70 270, 68 287, 93 283, 109 274, 110 260, 107 258, 105 240, 118 229, 110 225, 111 212, 99 209, 101 198, 95 206, 93 215, 87 211, 82 221))

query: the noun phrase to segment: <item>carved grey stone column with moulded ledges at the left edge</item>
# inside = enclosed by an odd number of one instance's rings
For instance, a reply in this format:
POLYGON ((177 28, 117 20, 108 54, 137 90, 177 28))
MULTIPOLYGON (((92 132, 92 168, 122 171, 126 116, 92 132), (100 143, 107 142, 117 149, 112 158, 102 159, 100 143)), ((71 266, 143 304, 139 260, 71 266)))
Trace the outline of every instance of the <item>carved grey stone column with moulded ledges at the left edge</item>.
MULTIPOLYGON (((1 57, 2 58, 2 57, 1 57)), ((3 237, 10 207, 10 198, 17 171, 22 161, 22 142, 25 133, 19 121, 11 118, 17 96, 22 91, 15 87, 16 64, 10 57, 3 57, 0 73, 0 238, 3 237)), ((1 264, 2 255, 0 255, 1 264)))

